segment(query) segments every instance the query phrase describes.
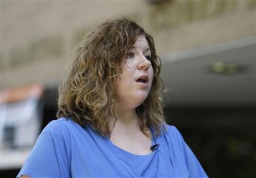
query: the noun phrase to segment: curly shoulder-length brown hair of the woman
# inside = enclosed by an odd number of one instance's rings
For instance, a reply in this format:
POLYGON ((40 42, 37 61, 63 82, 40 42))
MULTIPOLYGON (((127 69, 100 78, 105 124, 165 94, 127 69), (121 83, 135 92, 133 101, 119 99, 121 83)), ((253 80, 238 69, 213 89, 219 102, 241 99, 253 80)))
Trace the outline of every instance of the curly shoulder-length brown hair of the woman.
POLYGON ((160 58, 153 37, 127 19, 103 22, 75 48, 73 67, 60 87, 57 118, 71 118, 81 126, 90 124, 99 134, 110 137, 109 119, 118 119, 113 83, 122 72, 121 62, 141 35, 151 50, 154 78, 148 98, 136 108, 138 125, 145 135, 150 127, 160 135, 165 123, 160 58))

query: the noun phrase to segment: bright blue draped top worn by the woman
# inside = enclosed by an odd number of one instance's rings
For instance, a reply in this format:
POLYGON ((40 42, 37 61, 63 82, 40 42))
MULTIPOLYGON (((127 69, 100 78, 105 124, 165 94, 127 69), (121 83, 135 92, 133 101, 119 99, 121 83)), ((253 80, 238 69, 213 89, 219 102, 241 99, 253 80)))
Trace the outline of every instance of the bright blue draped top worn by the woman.
POLYGON ((155 142, 160 144, 156 151, 135 155, 90 126, 83 128, 72 119, 59 118, 38 136, 17 177, 207 177, 174 126, 167 125, 166 133, 155 142))

